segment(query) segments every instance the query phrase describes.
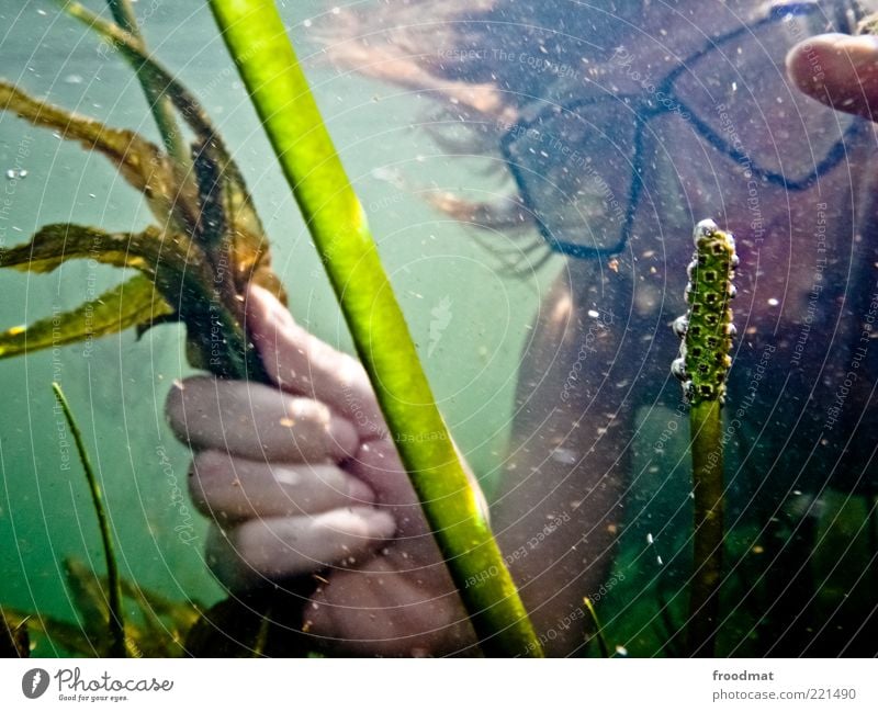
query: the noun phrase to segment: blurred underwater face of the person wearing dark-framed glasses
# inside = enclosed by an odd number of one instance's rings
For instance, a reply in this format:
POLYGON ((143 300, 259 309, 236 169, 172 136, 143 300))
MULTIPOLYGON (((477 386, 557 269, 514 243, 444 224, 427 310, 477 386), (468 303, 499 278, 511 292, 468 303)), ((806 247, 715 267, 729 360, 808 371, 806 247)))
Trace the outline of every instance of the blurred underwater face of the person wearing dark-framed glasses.
MULTIPOLYGON (((668 302, 705 217, 736 234, 753 273, 759 257, 795 263, 818 213, 844 233, 869 146, 865 122, 804 97, 785 69, 807 37, 853 32, 853 3, 685 5, 651 4, 589 41, 583 67, 555 72, 504 142, 544 239, 618 257, 643 282, 642 310, 668 302)), ((798 289, 787 270, 763 284, 798 289)))

